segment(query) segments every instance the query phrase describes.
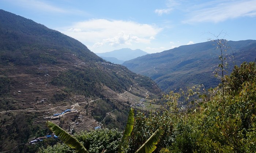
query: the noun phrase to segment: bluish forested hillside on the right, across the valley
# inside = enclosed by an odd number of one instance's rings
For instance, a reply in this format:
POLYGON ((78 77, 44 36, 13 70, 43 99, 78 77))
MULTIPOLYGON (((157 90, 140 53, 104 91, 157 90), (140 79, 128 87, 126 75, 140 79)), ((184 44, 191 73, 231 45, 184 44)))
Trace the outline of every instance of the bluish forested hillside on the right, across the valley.
MULTIPOLYGON (((223 53, 229 64, 225 68, 228 71, 232 70, 235 61, 239 65, 256 58, 256 40, 228 41, 226 47, 230 47, 223 53), (235 58, 231 57, 233 53, 235 58)), ((209 88, 219 83, 212 74, 220 63, 219 55, 221 52, 216 49, 215 42, 208 41, 141 56, 122 65, 152 78, 165 92, 198 83, 209 88)))

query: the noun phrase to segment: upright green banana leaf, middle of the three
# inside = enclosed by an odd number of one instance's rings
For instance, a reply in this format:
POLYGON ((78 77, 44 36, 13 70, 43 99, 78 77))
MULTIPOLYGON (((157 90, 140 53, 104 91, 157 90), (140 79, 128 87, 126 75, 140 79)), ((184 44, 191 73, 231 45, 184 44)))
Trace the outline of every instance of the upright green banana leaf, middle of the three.
POLYGON ((125 149, 128 148, 128 138, 132 133, 133 125, 134 125, 134 110, 133 108, 131 108, 129 112, 128 120, 126 123, 126 127, 124 130, 124 135, 119 145, 118 153, 123 153, 125 152, 125 149))

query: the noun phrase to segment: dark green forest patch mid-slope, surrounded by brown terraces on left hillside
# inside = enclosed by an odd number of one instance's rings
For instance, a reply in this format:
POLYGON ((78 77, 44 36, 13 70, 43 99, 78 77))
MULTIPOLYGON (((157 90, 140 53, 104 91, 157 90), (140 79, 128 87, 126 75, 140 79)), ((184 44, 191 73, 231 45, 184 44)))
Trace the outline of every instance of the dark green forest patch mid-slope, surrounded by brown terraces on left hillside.
POLYGON ((59 87, 65 86, 64 91, 67 92, 72 91, 86 96, 96 95, 101 98, 103 95, 99 91, 102 91, 102 84, 117 92, 122 92, 132 84, 129 77, 104 72, 97 65, 61 72, 51 83, 59 87))

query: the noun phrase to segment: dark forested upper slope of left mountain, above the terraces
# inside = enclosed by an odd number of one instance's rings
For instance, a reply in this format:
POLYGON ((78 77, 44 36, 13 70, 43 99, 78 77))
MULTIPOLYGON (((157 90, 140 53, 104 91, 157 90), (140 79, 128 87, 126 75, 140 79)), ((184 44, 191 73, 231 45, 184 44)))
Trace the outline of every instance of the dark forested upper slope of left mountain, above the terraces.
MULTIPOLYGON (((24 17, 0 10, 0 23, 0 63, 56 64, 54 56, 61 55, 60 51, 77 55, 85 61, 103 61, 74 38, 24 17)), ((67 56, 61 58, 68 60, 67 56)))

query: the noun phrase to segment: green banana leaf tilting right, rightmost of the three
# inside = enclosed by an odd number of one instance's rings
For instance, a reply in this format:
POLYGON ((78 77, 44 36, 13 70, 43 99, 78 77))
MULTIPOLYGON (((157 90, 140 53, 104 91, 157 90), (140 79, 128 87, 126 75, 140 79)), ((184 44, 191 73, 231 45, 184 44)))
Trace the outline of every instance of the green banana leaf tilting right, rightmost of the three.
POLYGON ((163 134, 162 127, 159 127, 151 136, 148 138, 148 140, 140 146, 140 148, 135 153, 151 153, 153 152, 157 146, 157 143, 163 134))

